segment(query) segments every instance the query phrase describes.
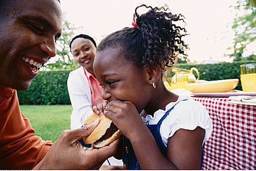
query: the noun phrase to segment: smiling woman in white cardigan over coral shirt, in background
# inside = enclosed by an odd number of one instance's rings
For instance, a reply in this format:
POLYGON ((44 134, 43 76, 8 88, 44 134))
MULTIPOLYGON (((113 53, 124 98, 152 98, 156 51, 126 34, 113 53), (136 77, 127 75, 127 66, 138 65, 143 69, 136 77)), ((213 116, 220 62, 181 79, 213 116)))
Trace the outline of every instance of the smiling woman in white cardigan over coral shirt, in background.
POLYGON ((71 129, 84 126, 86 118, 92 113, 92 107, 103 103, 103 88, 97 81, 93 62, 96 43, 87 35, 80 34, 70 43, 70 50, 81 67, 71 71, 67 80, 68 93, 73 107, 70 117, 71 129))

